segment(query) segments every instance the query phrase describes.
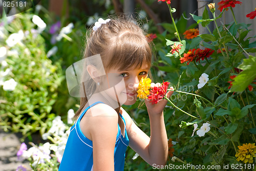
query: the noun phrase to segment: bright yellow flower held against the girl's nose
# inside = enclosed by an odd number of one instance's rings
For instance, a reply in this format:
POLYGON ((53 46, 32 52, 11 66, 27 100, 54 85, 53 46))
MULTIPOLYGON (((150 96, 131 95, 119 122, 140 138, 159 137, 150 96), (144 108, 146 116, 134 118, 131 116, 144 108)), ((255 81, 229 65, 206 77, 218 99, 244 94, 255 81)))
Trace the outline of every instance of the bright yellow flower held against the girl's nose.
POLYGON ((140 82, 139 82, 139 86, 138 86, 138 95, 137 97, 141 98, 141 99, 145 99, 147 98, 146 96, 150 94, 150 91, 148 89, 150 89, 150 84, 151 84, 151 79, 150 78, 141 78, 140 82))

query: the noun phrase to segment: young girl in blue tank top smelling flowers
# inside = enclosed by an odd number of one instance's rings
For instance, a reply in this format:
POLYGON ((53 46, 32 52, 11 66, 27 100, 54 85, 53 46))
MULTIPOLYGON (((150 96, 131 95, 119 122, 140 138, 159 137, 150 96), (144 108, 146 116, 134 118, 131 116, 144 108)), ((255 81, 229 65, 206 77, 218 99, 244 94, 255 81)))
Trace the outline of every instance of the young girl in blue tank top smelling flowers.
MULTIPOLYGON (((135 22, 99 19, 95 23, 84 52, 80 108, 60 171, 123 170, 128 145, 150 165, 166 163, 168 144, 163 109, 167 100, 161 99, 157 104, 145 100, 150 137, 121 107, 136 102, 138 84, 150 72, 151 57, 147 37, 135 22)), ((151 88, 155 86, 160 83, 151 84, 151 88)), ((172 93, 167 92, 167 97, 172 93)))

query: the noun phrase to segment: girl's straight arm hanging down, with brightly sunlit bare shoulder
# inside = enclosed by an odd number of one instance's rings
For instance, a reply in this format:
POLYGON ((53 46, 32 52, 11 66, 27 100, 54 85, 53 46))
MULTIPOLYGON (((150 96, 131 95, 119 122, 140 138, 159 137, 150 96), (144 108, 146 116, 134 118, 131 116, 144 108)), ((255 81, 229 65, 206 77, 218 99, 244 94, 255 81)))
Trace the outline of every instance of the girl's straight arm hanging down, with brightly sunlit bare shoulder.
POLYGON ((90 120, 89 132, 93 141, 93 170, 114 171, 118 115, 108 105, 98 104, 98 107, 86 118, 90 120))

